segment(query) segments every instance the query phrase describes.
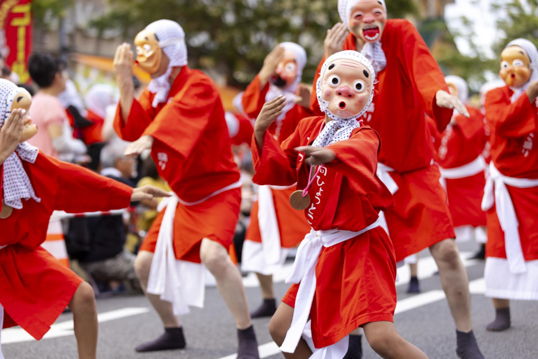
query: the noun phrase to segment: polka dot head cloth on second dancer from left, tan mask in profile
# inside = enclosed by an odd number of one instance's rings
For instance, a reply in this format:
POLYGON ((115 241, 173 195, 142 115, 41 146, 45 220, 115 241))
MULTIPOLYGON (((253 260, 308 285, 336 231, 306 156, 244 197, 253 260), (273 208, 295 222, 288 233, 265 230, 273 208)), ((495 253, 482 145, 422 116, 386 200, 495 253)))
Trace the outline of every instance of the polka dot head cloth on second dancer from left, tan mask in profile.
POLYGON ((187 65, 187 46, 185 45, 185 32, 183 28, 172 20, 157 20, 146 26, 146 30, 154 32, 159 39, 159 46, 170 63, 164 75, 151 80, 147 89, 155 94, 153 107, 168 100, 170 83, 168 78, 175 66, 187 65))

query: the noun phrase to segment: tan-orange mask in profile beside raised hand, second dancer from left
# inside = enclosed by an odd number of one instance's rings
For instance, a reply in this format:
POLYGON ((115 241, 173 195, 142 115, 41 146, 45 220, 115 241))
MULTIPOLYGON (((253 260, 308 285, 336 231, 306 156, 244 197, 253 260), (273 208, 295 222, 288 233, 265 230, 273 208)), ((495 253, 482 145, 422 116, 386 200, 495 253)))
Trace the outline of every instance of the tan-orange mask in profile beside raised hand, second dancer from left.
POLYGON ((168 58, 159 45, 159 39, 150 30, 140 31, 134 38, 136 46, 136 63, 152 78, 164 73, 168 67, 168 58))

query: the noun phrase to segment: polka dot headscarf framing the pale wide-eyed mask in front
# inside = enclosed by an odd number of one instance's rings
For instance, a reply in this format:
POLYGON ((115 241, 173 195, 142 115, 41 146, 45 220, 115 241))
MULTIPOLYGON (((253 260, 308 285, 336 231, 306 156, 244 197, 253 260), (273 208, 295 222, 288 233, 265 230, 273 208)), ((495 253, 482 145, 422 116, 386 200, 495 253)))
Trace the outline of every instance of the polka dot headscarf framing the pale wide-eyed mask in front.
POLYGON ((361 123, 360 121, 357 121, 357 118, 362 116, 370 103, 372 102, 373 98, 373 83, 376 79, 376 72, 373 70, 372 64, 368 59, 366 59, 362 54, 358 53, 357 51, 341 51, 337 52, 334 55, 331 55, 325 62, 323 62, 323 66, 321 67, 321 73, 320 78, 317 79, 316 82, 316 95, 317 95, 317 102, 320 104, 320 109, 329 116, 329 118, 332 119, 332 121, 329 121, 327 124, 325 124, 323 130, 320 132, 320 134, 316 137, 314 140, 314 143, 312 144, 315 147, 325 147, 332 143, 341 141, 343 139, 348 139, 349 136, 351 136, 351 131, 353 129, 356 129, 357 127, 360 127, 361 123), (363 64, 370 70, 370 81, 372 85, 372 92, 370 94, 370 97, 368 98, 368 101, 366 102, 364 109, 360 111, 357 115, 348 117, 348 118, 342 118, 338 117, 334 114, 332 114, 329 109, 327 108, 328 102, 324 101, 321 96, 321 81, 323 79, 323 75, 325 73, 325 69, 331 64, 332 61, 337 59, 348 59, 360 62, 360 64, 363 64))

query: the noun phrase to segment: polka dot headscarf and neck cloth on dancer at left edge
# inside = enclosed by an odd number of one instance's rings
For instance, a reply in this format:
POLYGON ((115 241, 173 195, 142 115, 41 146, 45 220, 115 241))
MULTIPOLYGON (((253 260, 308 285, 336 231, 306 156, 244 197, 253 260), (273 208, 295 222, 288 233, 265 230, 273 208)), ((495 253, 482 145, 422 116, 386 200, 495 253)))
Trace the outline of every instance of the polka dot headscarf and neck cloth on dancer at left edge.
MULTIPOLYGON (((20 90, 22 88, 17 87, 14 83, 0 79, 0 128, 4 125, 5 120, 9 118, 11 104, 20 90)), ((15 151, 19 156, 13 152, 4 161, 3 199, 6 205, 16 209, 22 209, 22 199, 29 200, 33 198, 37 202, 41 202, 41 199, 36 196, 33 190, 32 183, 24 170, 23 163, 20 161, 20 159, 23 159, 34 163, 39 150, 29 143, 23 142, 17 146, 15 151)))

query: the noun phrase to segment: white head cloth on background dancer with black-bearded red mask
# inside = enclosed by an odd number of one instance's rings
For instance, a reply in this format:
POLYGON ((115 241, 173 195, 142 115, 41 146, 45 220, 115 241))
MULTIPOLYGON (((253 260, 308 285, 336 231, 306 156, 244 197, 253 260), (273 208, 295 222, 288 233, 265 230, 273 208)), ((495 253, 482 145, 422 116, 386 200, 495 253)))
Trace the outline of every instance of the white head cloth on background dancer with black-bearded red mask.
POLYGON ((288 113, 288 111, 295 106, 295 91, 297 90, 297 87, 301 82, 302 71, 303 69, 305 69, 307 61, 306 51, 301 45, 287 41, 285 43, 280 43, 280 46, 295 54, 295 58, 297 61, 297 77, 295 78, 295 81, 285 89, 281 89, 277 86, 274 86, 273 84, 269 85, 269 90, 267 91, 267 95, 265 95, 265 102, 273 100, 273 98, 277 97, 278 95, 286 96, 286 105, 284 106, 284 111, 282 111, 282 115, 278 116, 277 118, 278 127, 280 127, 279 125, 281 125, 279 124, 279 122, 284 121, 284 118, 286 118, 286 114, 288 113))

